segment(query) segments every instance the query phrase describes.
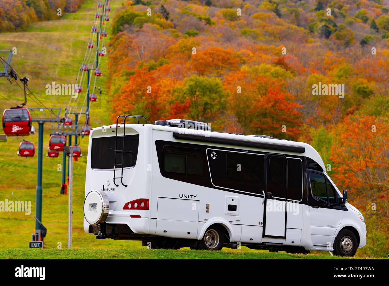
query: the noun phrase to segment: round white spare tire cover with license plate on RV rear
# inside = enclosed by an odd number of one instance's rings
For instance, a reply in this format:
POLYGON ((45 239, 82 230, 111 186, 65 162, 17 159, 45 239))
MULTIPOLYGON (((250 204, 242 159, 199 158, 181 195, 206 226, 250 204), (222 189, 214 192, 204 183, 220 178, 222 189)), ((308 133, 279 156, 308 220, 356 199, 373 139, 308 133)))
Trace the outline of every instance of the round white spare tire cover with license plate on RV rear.
POLYGON ((84 201, 84 217, 90 225, 105 222, 109 214, 109 199, 102 191, 93 190, 84 201))

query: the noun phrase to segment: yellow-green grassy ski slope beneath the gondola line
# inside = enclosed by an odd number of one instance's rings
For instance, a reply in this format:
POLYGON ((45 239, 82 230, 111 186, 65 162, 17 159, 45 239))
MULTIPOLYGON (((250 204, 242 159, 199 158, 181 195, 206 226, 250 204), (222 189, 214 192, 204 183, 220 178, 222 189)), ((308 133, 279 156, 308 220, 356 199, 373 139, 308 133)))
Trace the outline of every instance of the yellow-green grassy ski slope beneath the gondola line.
MULTIPOLYGON (((17 48, 17 54, 12 57, 11 65, 20 77, 30 78, 28 87, 47 107, 64 108, 68 104, 68 95, 47 96, 46 84, 55 81, 59 84, 73 84, 85 53, 89 32, 93 23, 93 15, 98 1, 88 0, 79 11, 66 14, 63 19, 37 22, 30 25, 23 33, 0 33, 0 49, 17 48)), ((112 13, 121 6, 121 1, 112 1, 112 13)), ((107 29, 110 35, 110 27, 107 29)), ((108 37, 107 37, 108 40, 108 37)), ((106 41, 107 41, 106 40, 106 41)), ((106 65, 108 57, 102 61, 103 76, 97 80, 96 86, 102 87, 102 97, 91 103, 91 125, 109 124, 107 119, 108 100, 105 97, 106 65)), ((19 83, 20 84, 20 83, 19 83)), ((23 102, 23 91, 5 78, 0 78, 0 94, 14 104, 0 97, 0 110, 23 102)), ((85 89, 82 95, 85 95, 85 89)), ((38 105, 28 98, 28 107, 38 105)), ((63 112, 62 112, 63 115, 63 112)), ((37 124, 34 124, 37 129, 37 124)), ((36 130, 37 131, 37 130, 36 130)), ((3 133, 3 130, 0 130, 3 133)), ((44 126, 44 158, 43 158, 43 208, 42 222, 47 228, 45 247, 56 248, 58 242, 63 247, 67 244, 68 196, 60 195, 61 172, 58 164, 62 163, 62 154, 58 158, 47 158, 51 124, 44 126)), ((25 137, 37 146, 38 135, 25 137)), ((74 140, 74 138, 73 138, 74 140)), ((14 200, 12 192, 20 200, 32 202, 32 214, 35 214, 35 187, 37 180, 37 155, 33 158, 21 158, 16 155, 21 138, 9 137, 8 142, 0 145, 0 201, 14 200)), ((139 242, 122 242, 114 240, 96 240, 93 235, 86 235, 82 226, 84 202, 84 183, 86 168, 86 151, 88 137, 81 140, 84 156, 74 163, 74 214, 73 214, 73 245, 75 247, 126 247, 139 246, 139 242)), ((0 248, 28 247, 31 233, 34 232, 34 219, 20 212, 1 212, 0 248)), ((0 255, 2 257, 2 255, 0 255)))

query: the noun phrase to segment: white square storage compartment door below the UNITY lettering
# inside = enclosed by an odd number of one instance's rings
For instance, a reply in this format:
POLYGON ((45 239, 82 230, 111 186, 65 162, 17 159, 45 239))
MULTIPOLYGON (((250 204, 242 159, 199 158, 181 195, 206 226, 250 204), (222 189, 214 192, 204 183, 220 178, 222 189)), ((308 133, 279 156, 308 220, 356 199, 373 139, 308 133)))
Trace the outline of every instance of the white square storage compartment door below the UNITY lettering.
POLYGON ((196 239, 198 200, 158 198, 156 235, 196 239))

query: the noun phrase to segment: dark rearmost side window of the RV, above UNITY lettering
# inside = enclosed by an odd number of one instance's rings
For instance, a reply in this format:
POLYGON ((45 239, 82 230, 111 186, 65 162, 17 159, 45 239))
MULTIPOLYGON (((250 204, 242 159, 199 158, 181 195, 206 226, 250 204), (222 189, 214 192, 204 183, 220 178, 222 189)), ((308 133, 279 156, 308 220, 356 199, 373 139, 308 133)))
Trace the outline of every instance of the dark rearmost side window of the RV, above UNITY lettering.
POLYGON ((205 177, 206 162, 201 149, 165 146, 163 148, 163 170, 175 175, 205 177))

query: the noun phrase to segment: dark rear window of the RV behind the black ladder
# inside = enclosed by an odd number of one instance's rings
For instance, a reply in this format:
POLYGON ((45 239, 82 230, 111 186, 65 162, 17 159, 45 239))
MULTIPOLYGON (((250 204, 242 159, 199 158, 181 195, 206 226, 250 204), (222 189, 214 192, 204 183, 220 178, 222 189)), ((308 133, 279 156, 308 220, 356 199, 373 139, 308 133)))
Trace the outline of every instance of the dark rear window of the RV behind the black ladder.
MULTIPOLYGON (((115 147, 117 150, 123 148, 123 137, 118 137, 115 146, 115 136, 98 137, 92 139, 91 167, 93 169, 113 169, 115 161, 115 147)), ((124 140, 123 167, 134 167, 137 163, 139 145, 139 134, 126 135, 124 140)), ((116 153, 116 163, 122 163, 123 154, 116 153)), ((117 165, 117 168, 122 167, 117 165)))

